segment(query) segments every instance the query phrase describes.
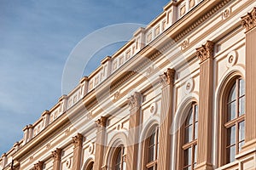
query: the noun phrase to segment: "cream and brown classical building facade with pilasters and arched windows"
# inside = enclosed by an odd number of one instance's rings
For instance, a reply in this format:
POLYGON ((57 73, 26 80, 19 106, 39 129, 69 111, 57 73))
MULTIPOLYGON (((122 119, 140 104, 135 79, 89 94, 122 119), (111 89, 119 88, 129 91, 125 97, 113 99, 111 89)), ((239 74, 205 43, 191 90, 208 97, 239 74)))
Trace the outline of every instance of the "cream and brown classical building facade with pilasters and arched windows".
POLYGON ((256 1, 177 0, 63 95, 0 169, 256 169, 256 1))

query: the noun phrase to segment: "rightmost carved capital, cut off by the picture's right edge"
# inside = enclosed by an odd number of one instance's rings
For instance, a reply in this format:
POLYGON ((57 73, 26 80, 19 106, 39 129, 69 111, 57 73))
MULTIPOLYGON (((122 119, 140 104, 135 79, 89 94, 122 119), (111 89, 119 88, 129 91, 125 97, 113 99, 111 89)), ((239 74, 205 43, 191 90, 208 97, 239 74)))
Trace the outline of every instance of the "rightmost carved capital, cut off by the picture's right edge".
POLYGON ((256 7, 253 8, 252 12, 241 17, 241 26, 245 27, 246 31, 249 31, 256 26, 256 7))

